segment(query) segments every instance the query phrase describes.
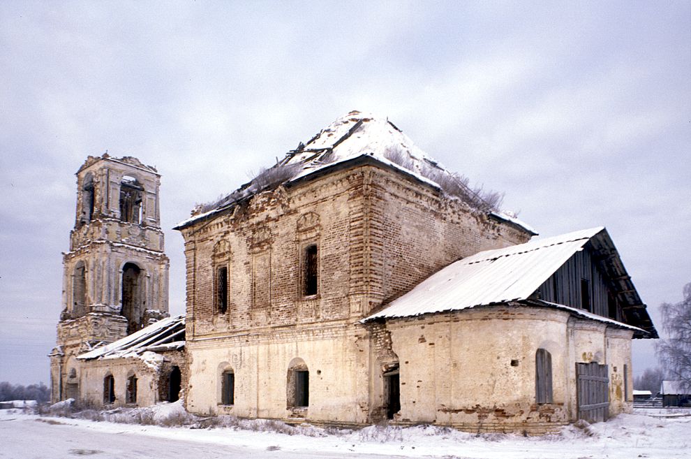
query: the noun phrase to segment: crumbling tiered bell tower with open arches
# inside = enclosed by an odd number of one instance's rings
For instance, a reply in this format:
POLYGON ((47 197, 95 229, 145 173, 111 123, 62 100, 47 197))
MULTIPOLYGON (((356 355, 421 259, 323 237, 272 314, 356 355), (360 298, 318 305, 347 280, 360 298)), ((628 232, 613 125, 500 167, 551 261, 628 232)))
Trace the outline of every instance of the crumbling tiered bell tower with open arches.
POLYGON ((50 354, 53 402, 79 398, 76 356, 168 316, 160 184, 156 168, 131 156, 89 156, 77 170, 63 309, 50 354))

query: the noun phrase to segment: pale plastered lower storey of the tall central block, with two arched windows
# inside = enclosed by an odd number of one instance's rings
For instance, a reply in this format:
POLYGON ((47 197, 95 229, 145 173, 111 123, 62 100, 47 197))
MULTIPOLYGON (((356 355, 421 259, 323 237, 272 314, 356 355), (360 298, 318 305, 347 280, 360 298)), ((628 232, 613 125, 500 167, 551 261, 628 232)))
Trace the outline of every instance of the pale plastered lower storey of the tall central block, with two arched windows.
POLYGON ((249 418, 366 423, 369 340, 363 332, 336 326, 188 344, 194 357, 187 408, 249 418), (309 407, 289 409, 286 386, 295 358, 309 370, 309 407), (221 405, 224 370, 235 374, 232 406, 221 405))

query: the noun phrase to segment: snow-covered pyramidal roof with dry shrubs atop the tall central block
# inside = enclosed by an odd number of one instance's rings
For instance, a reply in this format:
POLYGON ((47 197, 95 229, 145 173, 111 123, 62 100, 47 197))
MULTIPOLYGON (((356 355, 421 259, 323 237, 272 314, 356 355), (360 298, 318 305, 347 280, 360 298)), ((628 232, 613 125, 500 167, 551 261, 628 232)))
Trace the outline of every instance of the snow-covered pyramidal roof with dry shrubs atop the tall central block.
MULTIPOLYGON (((281 183, 295 184, 306 177, 315 176, 315 173, 332 170, 331 168, 357 159, 376 161, 419 182, 445 190, 449 196, 464 196, 464 201, 475 203, 478 208, 491 210, 491 205, 468 187, 467 180, 450 172, 423 152, 388 118, 357 110, 336 119, 306 144, 301 143, 295 150, 288 152, 285 158, 266 172, 269 175, 273 173, 274 180, 279 177, 278 181, 281 183)), ((263 180, 255 178, 213 205, 201 206, 201 212, 179 222, 175 228, 182 229, 196 221, 214 217, 269 186, 263 180)), ((499 212, 496 216, 529 233, 537 234, 530 226, 504 212, 499 212)))

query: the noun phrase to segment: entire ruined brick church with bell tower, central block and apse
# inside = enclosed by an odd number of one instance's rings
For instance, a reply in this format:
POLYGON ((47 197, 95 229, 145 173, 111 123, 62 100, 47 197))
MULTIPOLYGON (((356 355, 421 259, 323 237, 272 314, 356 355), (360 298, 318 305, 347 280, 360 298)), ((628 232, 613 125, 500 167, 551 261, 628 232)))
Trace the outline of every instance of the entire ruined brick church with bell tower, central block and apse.
POLYGON ((530 433, 632 407, 631 340, 657 333, 607 231, 532 239, 387 119, 350 112, 195 208, 186 316, 161 321, 158 178, 77 173, 54 400, 530 433))

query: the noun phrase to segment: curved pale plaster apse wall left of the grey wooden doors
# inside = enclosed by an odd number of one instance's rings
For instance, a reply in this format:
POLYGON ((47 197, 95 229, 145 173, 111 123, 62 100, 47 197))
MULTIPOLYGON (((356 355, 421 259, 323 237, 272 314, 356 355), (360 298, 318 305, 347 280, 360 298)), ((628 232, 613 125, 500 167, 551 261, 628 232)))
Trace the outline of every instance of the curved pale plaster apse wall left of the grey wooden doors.
POLYGON ((401 363, 394 421, 528 433, 567 423, 567 320, 551 309, 482 307, 389 321, 401 363), (553 403, 545 405, 535 404, 540 347, 552 358, 553 403))

